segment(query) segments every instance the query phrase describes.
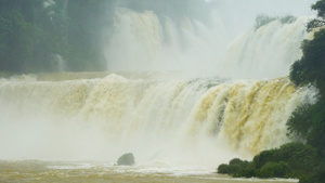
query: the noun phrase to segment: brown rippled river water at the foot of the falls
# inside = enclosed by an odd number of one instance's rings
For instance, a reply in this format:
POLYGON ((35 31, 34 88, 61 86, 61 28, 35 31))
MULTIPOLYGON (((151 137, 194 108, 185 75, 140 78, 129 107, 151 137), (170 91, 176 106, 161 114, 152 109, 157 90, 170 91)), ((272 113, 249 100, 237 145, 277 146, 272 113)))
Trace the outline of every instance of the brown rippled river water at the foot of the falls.
POLYGON ((66 162, 39 160, 1 160, 0 182, 216 182, 216 183, 285 183, 297 180, 231 179, 211 168, 143 165, 117 167, 110 162, 66 162))

